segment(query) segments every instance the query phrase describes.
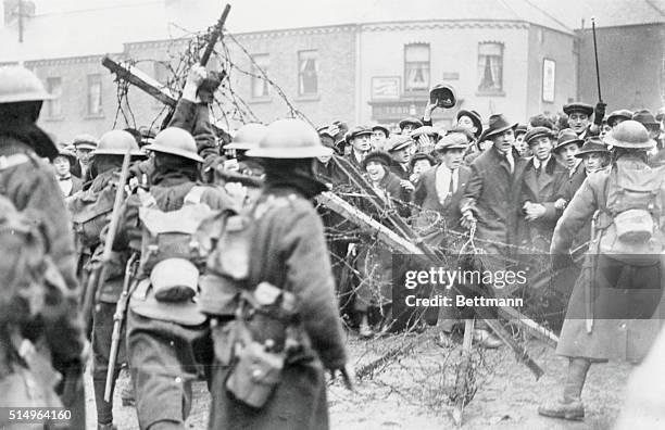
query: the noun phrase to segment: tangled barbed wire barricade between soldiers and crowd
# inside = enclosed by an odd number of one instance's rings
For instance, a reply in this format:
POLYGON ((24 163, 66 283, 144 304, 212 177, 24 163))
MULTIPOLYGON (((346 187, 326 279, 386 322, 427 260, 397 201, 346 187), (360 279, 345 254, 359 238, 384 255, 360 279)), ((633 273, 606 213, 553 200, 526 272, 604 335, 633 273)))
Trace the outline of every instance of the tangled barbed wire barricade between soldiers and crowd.
MULTIPOLYGON (((209 39, 208 33, 189 34, 188 36, 186 39, 172 40, 166 49, 167 61, 130 59, 129 63, 133 65, 150 62, 162 64, 167 71, 167 76, 163 77, 164 81, 161 84, 174 96, 179 97, 188 71, 193 64, 198 63, 209 39)), ((231 85, 235 81, 236 74, 263 80, 284 102, 288 116, 302 118, 311 124, 306 116, 289 101, 281 88, 256 64, 249 51, 234 35, 224 34, 223 41, 213 51, 212 60, 225 71, 226 77, 214 94, 211 114, 213 119, 224 125, 227 130, 230 130, 234 124, 260 121, 251 105, 231 85), (234 58, 230 46, 235 47, 234 52, 239 52, 243 58, 234 58), (250 69, 246 69, 240 64, 249 64, 250 69)), ((114 126, 122 118, 128 126, 138 128, 129 101, 129 92, 128 84, 120 80, 116 91, 117 111, 114 126)), ((159 122, 160 117, 164 116, 168 108, 164 106, 155 113, 150 128, 159 122)), ((482 240, 475 237, 473 232, 469 235, 467 231, 449 229, 438 213, 423 212, 413 203, 393 202, 392 205, 387 204, 385 212, 381 212, 367 204, 366 202, 372 197, 352 184, 336 185, 331 191, 360 211, 369 213, 373 218, 379 222, 385 222, 389 216, 394 216, 396 205, 407 208, 407 212, 414 215, 405 219, 406 224, 421 237, 432 235, 439 237, 436 252, 449 267, 455 268, 462 264, 469 264, 469 255, 477 256, 482 253, 482 249, 489 245, 500 245, 502 249, 510 250, 506 255, 500 256, 506 268, 524 267, 525 264, 527 267, 539 270, 549 267, 549 256, 540 250, 482 240), (522 255, 522 257, 514 257, 513 255, 522 255)), ((349 338, 350 347, 352 347, 353 355, 356 357, 357 375, 361 378, 372 380, 379 387, 390 387, 391 392, 398 392, 407 401, 416 402, 432 409, 443 404, 454 404, 460 395, 455 391, 460 380, 457 370, 462 357, 460 342, 451 341, 451 339, 455 339, 454 337, 442 336, 438 328, 423 332, 422 321, 426 318, 426 312, 422 309, 409 315, 402 324, 402 330, 397 333, 392 333, 391 330, 381 331, 380 322, 390 318, 394 320, 399 317, 390 314, 391 309, 388 305, 391 298, 388 291, 393 279, 391 273, 396 269, 392 267, 391 255, 400 251, 384 243, 376 232, 367 231, 367 229, 354 225, 344 217, 332 213, 329 208, 319 205, 317 210, 322 213, 325 222, 330 260, 338 287, 340 287, 338 291, 339 304, 346 315, 344 324, 349 328, 356 325, 351 316, 353 306, 356 304, 354 301, 361 300, 365 302, 365 306, 375 308, 374 321, 379 326, 379 332, 390 334, 369 341, 360 341, 355 337, 349 338), (418 372, 414 372, 414 368, 418 369, 418 372), (387 371, 387 369, 390 371, 387 371), (404 375, 405 378, 396 377, 400 374, 406 374, 404 375), (394 383, 396 378, 401 381, 400 384, 394 383), (404 385, 404 381, 410 382, 404 385)), ((386 223, 386 225, 389 224, 386 223)), ((552 301, 555 301, 555 299, 561 301, 561 298, 552 298, 553 293, 550 290, 545 286, 542 291, 534 292, 527 286, 511 291, 510 295, 525 300, 525 306, 520 309, 522 313, 527 314, 535 321, 545 327, 551 327, 551 320, 555 319, 553 316, 561 317, 565 309, 563 309, 563 306, 556 308, 552 305, 552 301)), ((431 289, 430 295, 436 292, 436 288, 431 289)), ((393 307, 394 304, 394 299, 392 299, 393 307)), ((526 341, 528 337, 518 325, 511 321, 506 322, 511 327, 515 339, 522 342, 526 341)), ((386 329, 386 327, 382 327, 382 329, 386 329)), ((543 353, 542 345, 537 346, 536 352, 537 354, 543 353)), ((488 364, 484 352, 474 347, 470 366, 465 367, 463 375, 468 387, 464 394, 464 403, 468 403, 473 399, 482 380, 492 374, 492 364, 488 364)))

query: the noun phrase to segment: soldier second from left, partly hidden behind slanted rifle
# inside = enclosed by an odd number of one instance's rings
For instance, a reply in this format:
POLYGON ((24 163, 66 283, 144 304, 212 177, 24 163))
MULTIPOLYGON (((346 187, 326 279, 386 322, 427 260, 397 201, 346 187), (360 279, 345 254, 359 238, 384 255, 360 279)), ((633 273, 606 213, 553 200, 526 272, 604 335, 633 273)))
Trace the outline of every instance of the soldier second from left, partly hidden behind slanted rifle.
MULTIPOLYGON (((92 265, 101 264, 103 244, 101 231, 106 227, 110 212, 113 210, 118 175, 125 153, 129 150, 130 156, 143 156, 136 139, 127 131, 111 130, 99 140, 93 155, 93 165, 97 176, 90 188, 75 195, 68 204, 73 212, 75 225, 78 226, 78 236, 81 243, 88 245, 92 255, 92 265), (90 218, 91 215, 97 215, 90 218), (86 237, 88 236, 88 237, 86 237), (91 237, 90 237, 91 236, 91 237)), ((123 185, 124 186, 124 185, 123 185)), ((125 265, 128 252, 115 252, 108 262, 105 279, 99 280, 101 291, 97 294, 99 303, 96 304, 92 316, 92 387, 97 407, 97 427, 100 430, 113 429, 113 400, 104 401, 106 371, 109 369, 109 355, 111 352, 111 334, 113 331, 113 314, 123 289, 125 265)), ((89 267, 89 269, 92 269, 89 267)), ((91 279, 88 277, 88 279, 91 279)), ((96 281, 92 277, 92 281, 96 281)), ((97 286, 88 284, 87 288, 97 286)), ((85 317, 88 317, 87 315, 85 317)), ((124 346, 124 342, 121 343, 124 346)), ((115 364, 113 383, 120 375, 121 364, 125 362, 125 351, 121 347, 115 364)))

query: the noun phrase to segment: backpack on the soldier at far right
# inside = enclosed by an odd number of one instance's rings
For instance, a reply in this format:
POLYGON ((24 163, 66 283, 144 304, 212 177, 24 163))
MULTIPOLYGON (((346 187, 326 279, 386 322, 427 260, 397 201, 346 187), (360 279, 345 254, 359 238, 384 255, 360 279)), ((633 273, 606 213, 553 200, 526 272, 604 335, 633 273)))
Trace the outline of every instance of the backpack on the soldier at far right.
POLYGON ((599 216, 599 252, 619 262, 649 266, 665 248, 661 230, 665 169, 629 164, 612 168, 599 216))

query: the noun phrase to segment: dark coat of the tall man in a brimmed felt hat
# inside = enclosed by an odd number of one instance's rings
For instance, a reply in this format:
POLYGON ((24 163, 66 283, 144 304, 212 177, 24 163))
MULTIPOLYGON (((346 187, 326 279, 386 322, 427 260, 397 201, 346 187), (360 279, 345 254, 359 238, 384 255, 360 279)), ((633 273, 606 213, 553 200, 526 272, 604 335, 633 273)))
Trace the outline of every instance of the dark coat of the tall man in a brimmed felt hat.
MULTIPOLYGON (((462 212, 470 210, 478 219, 476 236, 481 240, 514 244, 517 232, 519 192, 526 161, 513 151, 514 172, 495 148, 482 152, 470 165, 472 176, 460 201, 462 212)), ((481 244, 489 254, 502 254, 500 244, 481 244)))

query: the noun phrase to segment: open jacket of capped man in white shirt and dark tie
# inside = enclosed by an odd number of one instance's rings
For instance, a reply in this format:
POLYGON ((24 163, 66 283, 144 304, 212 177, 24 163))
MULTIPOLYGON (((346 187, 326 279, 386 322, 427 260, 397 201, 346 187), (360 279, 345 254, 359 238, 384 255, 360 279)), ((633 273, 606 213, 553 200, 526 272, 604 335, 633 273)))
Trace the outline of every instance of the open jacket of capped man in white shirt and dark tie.
POLYGON ((419 211, 424 215, 426 215, 427 211, 439 213, 446 223, 447 229, 462 231, 462 226, 460 225, 460 218, 462 217, 460 201, 470 178, 472 170, 469 167, 460 166, 457 190, 452 195, 446 198, 446 201, 441 204, 436 188, 438 167, 435 166, 421 175, 415 190, 414 203, 419 206, 419 211))

